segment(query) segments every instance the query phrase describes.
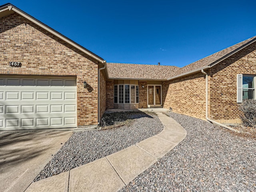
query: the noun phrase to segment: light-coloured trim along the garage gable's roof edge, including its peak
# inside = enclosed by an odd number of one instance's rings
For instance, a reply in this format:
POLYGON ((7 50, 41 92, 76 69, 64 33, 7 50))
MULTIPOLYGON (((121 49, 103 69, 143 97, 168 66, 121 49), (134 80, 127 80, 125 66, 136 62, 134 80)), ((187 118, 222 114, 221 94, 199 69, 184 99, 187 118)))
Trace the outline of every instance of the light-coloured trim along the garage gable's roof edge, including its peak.
POLYGON ((2 9, 0 12, 2 11, 6 11, 6 10, 12 10, 18 14, 20 14, 21 16, 23 16, 24 18, 30 20, 31 22, 33 22, 34 24, 40 26, 41 28, 47 30, 48 32, 50 32, 51 34, 57 36, 58 38, 60 38, 61 40, 67 42, 68 44, 70 44, 71 46, 77 48, 78 50, 84 52, 85 54, 87 54, 88 56, 96 59, 97 61, 99 61, 100 63, 104 63, 104 60, 100 57, 95 56, 94 54, 88 52, 88 50, 78 46, 78 44, 74 43, 72 40, 69 40, 68 38, 64 37, 63 35, 61 35, 60 33, 56 32, 55 30, 52 30, 51 28, 49 28, 48 26, 44 25, 42 22, 35 20, 34 18, 32 18, 31 16, 29 16, 28 14, 25 14, 23 11, 19 10, 18 8, 12 6, 11 4, 7 5, 7 8, 2 9))

